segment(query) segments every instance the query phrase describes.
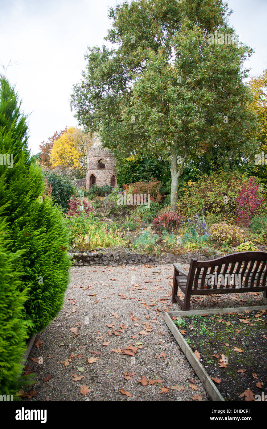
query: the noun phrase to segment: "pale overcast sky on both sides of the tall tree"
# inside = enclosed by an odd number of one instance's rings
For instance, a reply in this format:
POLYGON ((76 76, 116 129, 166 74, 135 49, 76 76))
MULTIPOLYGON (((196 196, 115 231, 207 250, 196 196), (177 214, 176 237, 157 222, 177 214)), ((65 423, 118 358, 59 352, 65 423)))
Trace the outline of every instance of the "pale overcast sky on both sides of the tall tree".
MULTIPOLYGON (((55 131, 77 126, 69 107, 72 85, 85 68, 87 46, 102 45, 116 0, 0 0, 0 63, 30 113, 30 147, 55 131)), ((246 64, 255 76, 267 68, 267 0, 228 0, 229 22, 255 54, 246 64)), ((3 72, 1 68, 0 73, 3 72)))

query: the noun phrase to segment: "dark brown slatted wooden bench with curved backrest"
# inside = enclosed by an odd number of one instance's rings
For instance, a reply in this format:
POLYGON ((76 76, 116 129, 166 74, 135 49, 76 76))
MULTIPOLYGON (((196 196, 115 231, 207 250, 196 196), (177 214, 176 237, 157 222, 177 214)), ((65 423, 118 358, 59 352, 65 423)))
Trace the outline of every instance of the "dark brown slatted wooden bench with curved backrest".
POLYGON ((267 297, 267 252, 238 252, 208 261, 191 259, 188 272, 178 263, 173 266, 171 302, 178 302, 183 310, 189 310, 192 295, 263 291, 267 297), (184 301, 177 296, 178 287, 184 301))

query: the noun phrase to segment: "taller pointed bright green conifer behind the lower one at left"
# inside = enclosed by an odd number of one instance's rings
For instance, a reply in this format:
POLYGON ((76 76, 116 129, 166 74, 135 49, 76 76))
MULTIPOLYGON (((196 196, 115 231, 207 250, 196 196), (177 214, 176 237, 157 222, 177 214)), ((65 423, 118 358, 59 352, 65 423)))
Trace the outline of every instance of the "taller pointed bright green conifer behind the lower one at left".
POLYGON ((0 217, 6 218, 12 252, 23 252, 16 267, 23 272, 18 292, 29 291, 24 308, 32 334, 48 325, 63 304, 69 281, 68 232, 59 208, 43 197, 42 170, 30 163, 18 96, 5 78, 0 83, 0 153, 14 154, 12 168, 0 165, 0 206, 6 205, 0 217))

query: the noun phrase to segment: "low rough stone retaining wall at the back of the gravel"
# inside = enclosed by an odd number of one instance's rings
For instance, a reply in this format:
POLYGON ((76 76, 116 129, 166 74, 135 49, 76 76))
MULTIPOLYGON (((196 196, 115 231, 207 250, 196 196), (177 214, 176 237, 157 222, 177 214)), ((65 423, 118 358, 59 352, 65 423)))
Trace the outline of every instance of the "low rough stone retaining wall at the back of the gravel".
POLYGON ((166 253, 165 255, 147 255, 138 254, 128 251, 110 251, 107 252, 103 249, 93 252, 79 252, 69 253, 73 265, 79 266, 91 266, 91 265, 105 265, 105 266, 120 266, 120 265, 141 265, 141 264, 170 264, 173 262, 179 262, 182 264, 189 264, 191 258, 197 258, 198 260, 210 260, 215 259, 217 256, 212 255, 207 257, 205 255, 197 253, 186 253, 181 256, 166 253))

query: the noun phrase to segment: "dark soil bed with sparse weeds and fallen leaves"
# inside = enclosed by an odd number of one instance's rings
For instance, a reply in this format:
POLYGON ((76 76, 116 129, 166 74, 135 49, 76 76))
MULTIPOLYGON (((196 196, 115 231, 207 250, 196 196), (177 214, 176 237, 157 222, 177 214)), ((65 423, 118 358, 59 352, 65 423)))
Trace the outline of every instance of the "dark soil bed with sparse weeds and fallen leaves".
POLYGON ((254 400, 266 390, 265 309, 173 320, 226 401, 254 400))

